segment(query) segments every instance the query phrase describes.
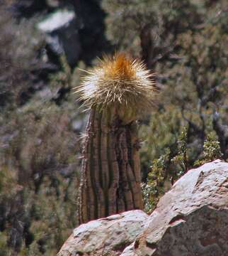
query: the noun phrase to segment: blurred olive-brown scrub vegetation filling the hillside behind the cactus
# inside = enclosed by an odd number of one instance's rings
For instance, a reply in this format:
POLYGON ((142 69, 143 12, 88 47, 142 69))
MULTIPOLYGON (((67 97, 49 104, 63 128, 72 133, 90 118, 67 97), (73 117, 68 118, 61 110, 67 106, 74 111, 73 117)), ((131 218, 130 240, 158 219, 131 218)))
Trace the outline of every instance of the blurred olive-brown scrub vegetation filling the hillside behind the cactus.
POLYGON ((104 51, 130 53, 156 74, 157 107, 139 120, 147 211, 188 169, 228 158, 227 1, 53 2, 1 1, 0 255, 56 255, 78 225, 87 114, 72 88, 104 51), (82 24, 74 67, 35 29, 71 4, 82 24))

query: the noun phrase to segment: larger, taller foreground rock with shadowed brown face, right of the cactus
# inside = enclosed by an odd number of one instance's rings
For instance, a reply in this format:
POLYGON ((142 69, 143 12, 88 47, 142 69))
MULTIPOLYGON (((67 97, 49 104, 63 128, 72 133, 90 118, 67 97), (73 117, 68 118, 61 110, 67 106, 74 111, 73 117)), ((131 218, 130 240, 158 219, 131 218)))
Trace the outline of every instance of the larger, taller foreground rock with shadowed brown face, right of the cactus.
POLYGON ((121 256, 227 256, 228 164, 188 171, 149 216, 147 228, 121 256))

